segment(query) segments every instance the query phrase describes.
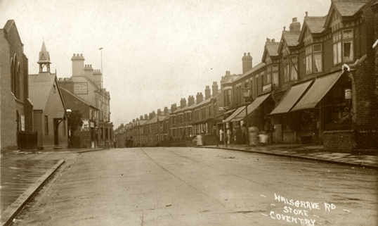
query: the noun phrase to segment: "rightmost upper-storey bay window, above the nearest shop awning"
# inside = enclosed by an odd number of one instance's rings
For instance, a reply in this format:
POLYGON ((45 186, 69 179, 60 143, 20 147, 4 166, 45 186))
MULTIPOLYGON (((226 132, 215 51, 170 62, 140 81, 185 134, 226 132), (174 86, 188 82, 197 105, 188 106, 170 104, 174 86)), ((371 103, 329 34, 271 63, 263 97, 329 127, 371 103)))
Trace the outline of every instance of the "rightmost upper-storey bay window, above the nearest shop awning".
POLYGON ((333 34, 333 63, 353 61, 353 30, 343 30, 333 34))

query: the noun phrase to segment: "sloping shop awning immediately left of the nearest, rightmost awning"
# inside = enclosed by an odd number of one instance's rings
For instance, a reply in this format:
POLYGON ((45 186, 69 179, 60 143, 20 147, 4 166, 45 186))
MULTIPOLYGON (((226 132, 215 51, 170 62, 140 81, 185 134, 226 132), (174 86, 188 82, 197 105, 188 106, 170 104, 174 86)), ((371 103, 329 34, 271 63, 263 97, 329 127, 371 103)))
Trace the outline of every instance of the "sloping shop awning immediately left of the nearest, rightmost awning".
POLYGON ((292 88, 282 96, 280 103, 278 103, 278 106, 274 108, 270 115, 289 112, 304 94, 311 82, 313 82, 313 80, 292 86, 292 88))

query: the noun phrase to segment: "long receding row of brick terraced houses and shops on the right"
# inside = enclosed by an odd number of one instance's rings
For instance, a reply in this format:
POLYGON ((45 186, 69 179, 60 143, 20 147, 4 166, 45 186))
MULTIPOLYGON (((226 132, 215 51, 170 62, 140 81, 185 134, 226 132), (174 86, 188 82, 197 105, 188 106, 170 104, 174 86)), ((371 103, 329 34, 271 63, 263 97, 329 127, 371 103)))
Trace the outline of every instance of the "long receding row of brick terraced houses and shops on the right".
POLYGON ((377 0, 332 0, 327 15, 306 12, 302 25, 292 18, 280 39, 266 39, 260 63, 244 54, 241 75, 227 71, 204 95, 120 125, 116 142, 183 145, 204 134, 214 144, 220 130, 247 123, 272 143, 376 149, 377 39, 377 0))

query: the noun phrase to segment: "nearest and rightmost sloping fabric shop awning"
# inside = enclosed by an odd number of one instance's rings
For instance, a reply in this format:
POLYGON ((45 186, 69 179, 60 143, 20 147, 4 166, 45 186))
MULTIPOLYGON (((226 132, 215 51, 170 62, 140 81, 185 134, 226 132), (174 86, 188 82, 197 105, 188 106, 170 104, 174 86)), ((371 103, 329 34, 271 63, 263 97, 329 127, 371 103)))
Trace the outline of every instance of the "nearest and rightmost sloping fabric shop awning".
POLYGON ((341 72, 316 78, 313 85, 308 89, 306 94, 296 103, 292 111, 315 108, 319 101, 330 91, 334 84, 341 77, 341 72))

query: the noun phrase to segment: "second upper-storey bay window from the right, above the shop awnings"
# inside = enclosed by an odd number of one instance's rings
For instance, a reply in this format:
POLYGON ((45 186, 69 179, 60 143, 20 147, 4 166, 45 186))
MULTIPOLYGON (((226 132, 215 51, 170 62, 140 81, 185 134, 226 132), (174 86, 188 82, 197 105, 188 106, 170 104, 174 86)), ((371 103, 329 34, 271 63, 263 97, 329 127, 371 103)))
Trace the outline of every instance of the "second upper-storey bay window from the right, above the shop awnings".
POLYGON ((322 44, 306 47, 306 75, 322 72, 322 44))

